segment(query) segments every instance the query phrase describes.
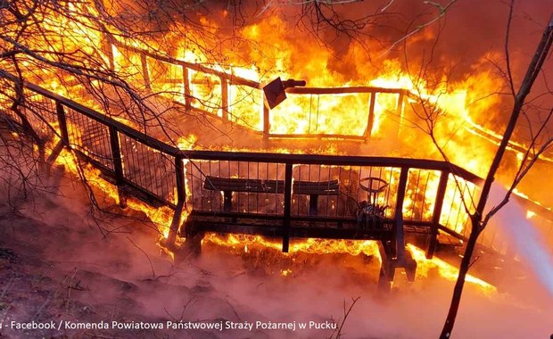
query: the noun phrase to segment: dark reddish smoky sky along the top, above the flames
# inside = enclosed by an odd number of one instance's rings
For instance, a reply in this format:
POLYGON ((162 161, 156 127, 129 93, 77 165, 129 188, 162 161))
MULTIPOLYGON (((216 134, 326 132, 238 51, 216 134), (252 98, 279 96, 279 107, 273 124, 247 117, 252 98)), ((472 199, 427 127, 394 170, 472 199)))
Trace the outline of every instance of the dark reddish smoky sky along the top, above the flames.
MULTIPOLYGON (((406 35, 409 36, 405 40, 408 52, 412 51, 410 58, 420 58, 422 53, 429 58, 434 54, 434 62, 466 62, 464 70, 484 55, 504 50, 509 7, 503 1, 458 0, 450 5, 448 1, 421 0, 324 3, 249 0, 239 3, 208 1, 192 5, 176 1, 154 4, 142 0, 129 2, 128 6, 116 10, 125 12, 132 8, 133 13, 143 16, 143 24, 149 22, 152 29, 161 31, 177 29, 175 23, 185 24, 188 30, 179 32, 181 38, 186 38, 191 32, 203 31, 202 37, 214 40, 211 41, 215 45, 212 52, 223 58, 225 54, 243 54, 246 46, 243 39, 251 37, 245 37, 244 32, 252 26, 270 25, 275 18, 279 18, 282 24, 272 30, 261 29, 263 34, 253 38, 260 44, 254 44, 255 47, 263 48, 267 44, 278 48, 280 40, 283 42, 280 47, 291 44, 297 48, 293 53, 315 57, 313 53, 317 51, 309 48, 318 46, 320 53, 330 50, 336 63, 332 67, 341 70, 340 63, 347 64, 351 58, 348 54, 352 52, 352 45, 357 46, 357 54, 365 54, 365 57, 351 60, 365 59, 378 65, 381 63, 379 59, 403 58, 402 37, 406 35), (445 15, 442 15, 446 8, 445 15), (427 27, 411 35, 422 26, 427 27), (438 44, 434 45, 438 32, 438 44), (389 49, 390 53, 385 53, 389 49)), ((552 0, 515 2, 510 36, 515 66, 522 59, 517 54, 532 55, 549 21, 551 8, 552 0)), ((195 37, 189 38, 199 42, 195 37)), ((249 60, 245 58, 243 62, 247 64, 249 60)), ((301 69, 302 65, 297 67, 301 69)))

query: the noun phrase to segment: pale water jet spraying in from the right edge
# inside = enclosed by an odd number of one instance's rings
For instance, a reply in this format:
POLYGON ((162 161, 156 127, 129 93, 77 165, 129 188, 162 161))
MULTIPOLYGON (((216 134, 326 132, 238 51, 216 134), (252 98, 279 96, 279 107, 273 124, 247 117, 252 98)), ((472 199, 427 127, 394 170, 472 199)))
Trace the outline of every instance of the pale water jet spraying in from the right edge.
MULTIPOLYGON (((492 187, 490 206, 493 206, 507 194, 502 186, 492 187)), ((543 241, 537 227, 526 219, 525 209, 516 201, 511 201, 494 217, 499 227, 508 236, 510 244, 514 246, 517 257, 524 265, 532 269, 535 277, 540 281, 549 294, 553 296, 553 258, 550 250, 543 241)), ((510 253, 513 255, 513 252, 510 253)))

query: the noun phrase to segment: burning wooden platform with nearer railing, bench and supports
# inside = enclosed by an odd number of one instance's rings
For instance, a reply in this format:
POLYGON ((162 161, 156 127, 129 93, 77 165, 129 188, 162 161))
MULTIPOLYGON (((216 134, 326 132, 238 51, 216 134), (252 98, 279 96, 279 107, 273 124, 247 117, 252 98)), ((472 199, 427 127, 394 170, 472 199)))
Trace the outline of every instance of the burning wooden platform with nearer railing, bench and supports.
MULTIPOLYGON (((121 203, 133 195, 174 210, 169 246, 180 235, 201 248, 205 232, 277 237, 284 252, 293 238, 376 240, 389 286, 397 268, 415 277, 406 236, 423 238, 428 257, 439 233, 464 238, 455 180, 470 194, 481 181, 444 161, 180 150, 37 85, 24 88, 23 117, 54 143, 48 161, 69 148, 118 187, 121 203)), ((23 123, 9 100, 2 106, 5 119, 23 123)))

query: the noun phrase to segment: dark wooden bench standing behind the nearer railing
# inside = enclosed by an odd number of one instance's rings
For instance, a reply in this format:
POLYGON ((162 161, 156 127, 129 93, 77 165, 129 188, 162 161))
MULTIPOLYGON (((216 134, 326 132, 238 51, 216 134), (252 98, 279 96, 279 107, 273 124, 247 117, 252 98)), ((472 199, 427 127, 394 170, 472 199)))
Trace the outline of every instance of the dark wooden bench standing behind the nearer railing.
MULTIPOLYGON (((271 193, 284 194, 285 180, 250 179, 250 178, 219 178, 207 176, 203 182, 203 189, 223 192, 223 211, 226 213, 232 208, 232 193, 271 193)), ((338 180, 330 181, 293 181, 293 194, 310 196, 310 216, 318 215, 319 195, 338 195, 340 186, 338 180)))

